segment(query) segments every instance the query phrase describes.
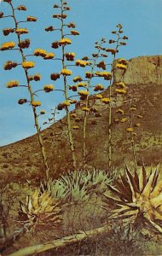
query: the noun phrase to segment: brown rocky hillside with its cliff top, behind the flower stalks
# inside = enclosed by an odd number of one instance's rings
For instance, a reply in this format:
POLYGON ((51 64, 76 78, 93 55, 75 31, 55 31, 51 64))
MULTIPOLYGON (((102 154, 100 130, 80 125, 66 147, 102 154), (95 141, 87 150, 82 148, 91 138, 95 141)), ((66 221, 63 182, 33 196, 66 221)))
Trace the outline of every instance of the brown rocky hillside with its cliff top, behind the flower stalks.
MULTIPOLYGON (((124 79, 129 93, 117 96, 113 85, 113 166, 118 168, 124 165, 124 161, 133 160, 130 133, 125 131, 129 124, 122 121, 129 116, 130 100, 131 106, 134 106, 131 119, 136 133, 137 164, 141 165, 144 161, 146 165, 156 165, 162 161, 162 55, 130 59, 124 77, 120 71, 115 72, 114 82, 121 79, 124 79), (124 115, 116 113, 119 108, 124 110, 124 115)), ((102 94, 108 96, 109 89, 102 94)), ((90 105, 95 106, 96 112, 90 113, 88 118, 87 168, 95 166, 107 170, 108 105, 95 99, 95 96, 90 96, 90 105)), ((79 108, 72 112, 80 118, 77 123, 79 130, 73 131, 80 163, 83 112, 79 108)), ((76 125, 76 121, 72 120, 72 123, 76 125)), ((67 145, 66 119, 44 130, 43 141, 49 152, 51 175, 57 177, 67 172, 71 168, 71 154, 67 145)), ((78 166, 82 168, 81 164, 78 166)), ((43 164, 37 135, 1 147, 0 170, 0 178, 6 181, 19 181, 19 178, 39 180, 43 176, 43 164)))

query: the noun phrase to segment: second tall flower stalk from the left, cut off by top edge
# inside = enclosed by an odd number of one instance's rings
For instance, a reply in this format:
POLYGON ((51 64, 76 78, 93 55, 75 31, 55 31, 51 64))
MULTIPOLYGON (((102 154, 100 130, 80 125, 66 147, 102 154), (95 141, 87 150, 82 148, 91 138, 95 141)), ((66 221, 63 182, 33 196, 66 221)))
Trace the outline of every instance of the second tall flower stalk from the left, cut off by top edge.
POLYGON ((72 44, 72 40, 70 38, 67 38, 67 36, 78 36, 79 32, 73 30, 75 28, 75 24, 70 22, 67 23, 67 11, 70 10, 70 8, 67 6, 67 2, 64 2, 63 0, 59 1, 60 4, 55 4, 54 8, 59 9, 59 13, 54 14, 53 18, 61 21, 60 28, 55 29, 53 26, 49 26, 45 28, 46 32, 55 32, 59 31, 61 33, 61 38, 59 41, 55 41, 51 44, 51 47, 53 49, 61 48, 61 58, 57 58, 57 61, 61 61, 61 71, 59 73, 51 73, 50 79, 57 80, 62 77, 64 88, 61 90, 64 94, 65 101, 61 102, 58 105, 58 110, 65 109, 67 113, 67 131, 68 131, 68 138, 69 138, 69 144, 70 149, 72 152, 72 169, 76 170, 77 164, 76 164, 76 153, 74 148, 74 142, 72 137, 72 125, 71 125, 71 118, 70 118, 70 111, 69 107, 71 104, 76 103, 76 100, 71 100, 71 96, 69 96, 69 85, 67 84, 67 77, 71 77, 72 70, 67 69, 68 61, 74 61, 75 53, 74 52, 66 52, 67 46, 72 44), (71 29, 70 32, 67 32, 67 29, 71 29))

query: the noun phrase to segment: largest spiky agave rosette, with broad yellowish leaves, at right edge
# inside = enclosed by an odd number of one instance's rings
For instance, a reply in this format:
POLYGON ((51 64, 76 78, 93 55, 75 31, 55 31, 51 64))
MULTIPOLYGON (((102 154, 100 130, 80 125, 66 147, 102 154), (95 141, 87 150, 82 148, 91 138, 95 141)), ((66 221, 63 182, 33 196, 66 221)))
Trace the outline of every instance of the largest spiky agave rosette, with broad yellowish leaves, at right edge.
POLYGON ((126 166, 125 174, 126 177, 120 177, 115 186, 108 185, 115 195, 105 195, 105 202, 114 206, 110 218, 130 218, 135 222, 142 217, 162 233, 162 180, 159 178, 159 168, 147 175, 144 166, 139 174, 136 170, 132 174, 126 166))

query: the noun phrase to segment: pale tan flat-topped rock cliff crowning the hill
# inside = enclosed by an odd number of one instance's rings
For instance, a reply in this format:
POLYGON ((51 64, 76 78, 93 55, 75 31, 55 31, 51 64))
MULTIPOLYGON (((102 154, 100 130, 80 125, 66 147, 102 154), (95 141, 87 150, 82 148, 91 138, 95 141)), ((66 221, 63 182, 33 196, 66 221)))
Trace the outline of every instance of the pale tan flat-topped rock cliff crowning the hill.
POLYGON ((130 59, 125 73, 115 71, 115 82, 123 79, 125 84, 162 84, 162 55, 130 59))

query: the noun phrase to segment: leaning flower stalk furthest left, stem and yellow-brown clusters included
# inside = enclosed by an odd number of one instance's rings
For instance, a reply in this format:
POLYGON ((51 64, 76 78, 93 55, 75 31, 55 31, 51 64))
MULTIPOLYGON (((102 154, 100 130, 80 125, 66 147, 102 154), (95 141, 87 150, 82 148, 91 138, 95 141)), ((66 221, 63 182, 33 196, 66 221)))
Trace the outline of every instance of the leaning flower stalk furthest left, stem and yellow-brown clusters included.
MULTIPOLYGON (((21 86, 25 86, 27 88, 28 92, 29 92, 30 102, 31 102, 31 106, 32 106, 32 112, 33 112, 33 116, 34 116, 34 122, 35 122, 35 126, 36 126, 36 129, 37 129, 37 134, 38 134, 38 143, 40 145, 42 159, 43 159, 43 166, 45 168, 45 176, 46 176, 46 179, 48 180, 49 179, 49 165, 48 165, 48 160, 47 160, 47 154, 45 152, 45 148, 44 148, 44 145, 43 145, 43 138, 42 138, 42 135, 41 135, 40 126, 38 124, 38 113, 37 113, 37 110, 36 110, 36 108, 41 105, 41 102, 35 101, 34 92, 32 91, 32 85, 30 83, 30 81, 32 79, 35 79, 36 81, 38 81, 40 79, 40 76, 39 75, 35 75, 33 77, 29 76, 28 69, 34 67, 35 62, 26 61, 26 55, 24 54, 23 49, 29 47, 30 40, 29 39, 26 39, 24 41, 20 40, 20 35, 28 33, 28 31, 27 31, 26 28, 19 28, 18 25, 19 25, 20 22, 16 20, 16 15, 15 15, 15 10, 24 10, 24 11, 26 11, 26 6, 21 5, 21 6, 18 6, 16 9, 14 9, 12 0, 9 0, 9 1, 6 0, 4 2, 9 3, 9 5, 11 7, 12 15, 3 16, 2 18, 12 17, 14 19, 14 29, 8 29, 8 30, 9 30, 9 32, 15 32, 15 34, 17 35, 18 49, 20 51, 21 61, 22 61, 21 66, 23 67, 25 77, 26 77, 26 85, 21 85, 21 86)), ((29 22, 29 21, 35 22, 35 21, 37 21, 37 18, 32 17, 32 16, 28 16, 27 19, 23 22, 29 22)), ((5 36, 8 35, 9 32, 7 32, 6 29, 3 30, 3 34, 5 36)), ((14 44, 14 46, 15 46, 15 44, 14 44)), ((14 49, 14 47, 11 47, 11 45, 9 45, 9 47, 8 47, 7 43, 3 44, 2 47, 1 47, 1 50, 7 50, 7 49, 14 49)), ((5 63, 4 69, 9 70, 13 67, 16 67, 17 65, 14 65, 13 63, 14 62, 12 62, 12 61, 8 61, 7 63, 5 63)), ((7 87, 12 88, 12 87, 17 87, 18 85, 19 85, 18 83, 16 84, 13 81, 12 83, 9 82, 7 84, 7 87)), ((26 99, 20 99, 18 103, 19 104, 24 104, 26 102, 27 102, 26 99)))

